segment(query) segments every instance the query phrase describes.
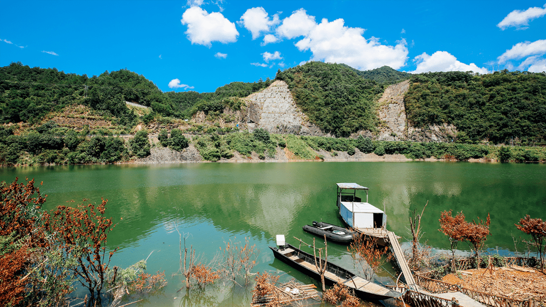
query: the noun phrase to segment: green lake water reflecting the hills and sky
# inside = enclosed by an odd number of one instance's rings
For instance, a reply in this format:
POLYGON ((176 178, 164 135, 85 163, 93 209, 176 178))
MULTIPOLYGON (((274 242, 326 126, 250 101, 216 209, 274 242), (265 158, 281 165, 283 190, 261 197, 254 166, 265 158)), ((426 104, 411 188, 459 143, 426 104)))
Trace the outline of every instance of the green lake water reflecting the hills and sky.
MULTIPOLYGON (((133 306, 248 305, 250 287, 220 282, 206 291, 185 290, 179 268, 179 233, 187 236, 201 262, 210 261, 225 242, 256 244, 260 250, 254 271, 290 272, 282 276, 314 282, 286 264, 274 260, 268 246, 284 234, 312 243, 313 236, 301 226, 314 221, 342 225, 337 214, 337 182, 367 186, 369 202, 388 214, 387 227, 401 236, 403 247, 410 238, 408 218, 426 207, 423 241, 446 250, 449 241, 438 231, 443 210, 462 212, 466 220, 491 215, 492 236, 486 249, 513 254, 513 238, 525 234, 514 226, 525 214, 546 219, 546 165, 472 164, 465 162, 290 162, 202 163, 169 165, 92 165, 0 168, 0 180, 19 177, 43 182, 46 209, 88 198, 108 199, 107 216, 118 222, 109 246, 119 246, 112 265, 127 267, 150 255, 148 273, 165 272, 162 293, 133 306)), ((365 197, 365 194, 364 194, 365 197)), ((317 243, 318 245, 318 243, 317 243)), ((466 244, 459 244, 462 251, 466 244)), ((523 246, 518 247, 523 251, 523 246)), ((310 249, 312 251, 312 249, 310 249)), ((346 246, 328 245, 328 260, 353 268, 346 246)), ((384 273, 388 275, 388 273, 384 273)))

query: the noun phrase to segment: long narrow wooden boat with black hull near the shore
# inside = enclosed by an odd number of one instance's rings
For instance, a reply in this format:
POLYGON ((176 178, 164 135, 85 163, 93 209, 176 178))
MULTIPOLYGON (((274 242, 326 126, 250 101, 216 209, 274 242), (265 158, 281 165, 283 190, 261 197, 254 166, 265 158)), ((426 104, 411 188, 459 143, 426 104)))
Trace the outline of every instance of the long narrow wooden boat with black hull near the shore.
MULTIPOLYGON (((289 264, 290 266, 301 270, 301 272, 311 276, 312 278, 321 279, 317 268, 314 266, 314 256, 305 251, 299 250, 293 245, 286 244, 278 248, 269 246, 273 254, 279 260, 289 264)), ((336 264, 327 262, 326 272, 324 272, 324 281, 329 285, 340 282, 354 290, 354 293, 365 300, 379 300, 399 297, 400 292, 390 290, 378 284, 374 284, 360 276, 344 269, 336 264)))

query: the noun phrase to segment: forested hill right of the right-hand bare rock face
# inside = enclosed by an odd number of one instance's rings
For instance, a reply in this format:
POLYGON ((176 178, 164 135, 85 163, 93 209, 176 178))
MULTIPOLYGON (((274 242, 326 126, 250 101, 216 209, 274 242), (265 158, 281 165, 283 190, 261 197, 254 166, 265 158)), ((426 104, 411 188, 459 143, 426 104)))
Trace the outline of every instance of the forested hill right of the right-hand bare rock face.
POLYGON ((413 127, 453 124, 461 142, 546 145, 544 73, 413 75, 404 102, 413 127))

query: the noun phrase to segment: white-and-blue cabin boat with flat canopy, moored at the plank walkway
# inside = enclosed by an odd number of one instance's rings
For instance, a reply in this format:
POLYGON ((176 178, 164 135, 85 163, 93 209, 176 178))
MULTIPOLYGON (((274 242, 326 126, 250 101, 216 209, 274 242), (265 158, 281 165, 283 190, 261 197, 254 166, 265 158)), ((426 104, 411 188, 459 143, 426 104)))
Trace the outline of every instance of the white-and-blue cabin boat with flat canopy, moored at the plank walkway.
POLYGON ((353 228, 384 228, 387 214, 368 203, 368 188, 356 183, 337 183, 337 207, 341 218, 353 228), (366 192, 366 202, 357 196, 357 190, 366 192))

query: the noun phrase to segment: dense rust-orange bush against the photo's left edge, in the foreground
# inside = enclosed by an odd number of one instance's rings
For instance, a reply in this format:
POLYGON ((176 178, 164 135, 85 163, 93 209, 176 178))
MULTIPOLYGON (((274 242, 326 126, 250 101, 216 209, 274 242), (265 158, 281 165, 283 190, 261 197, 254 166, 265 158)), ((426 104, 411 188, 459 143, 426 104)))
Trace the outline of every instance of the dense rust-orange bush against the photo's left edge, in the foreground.
POLYGON ((56 305, 72 291, 68 260, 46 232, 45 196, 17 180, 0 183, 0 305, 56 305))

